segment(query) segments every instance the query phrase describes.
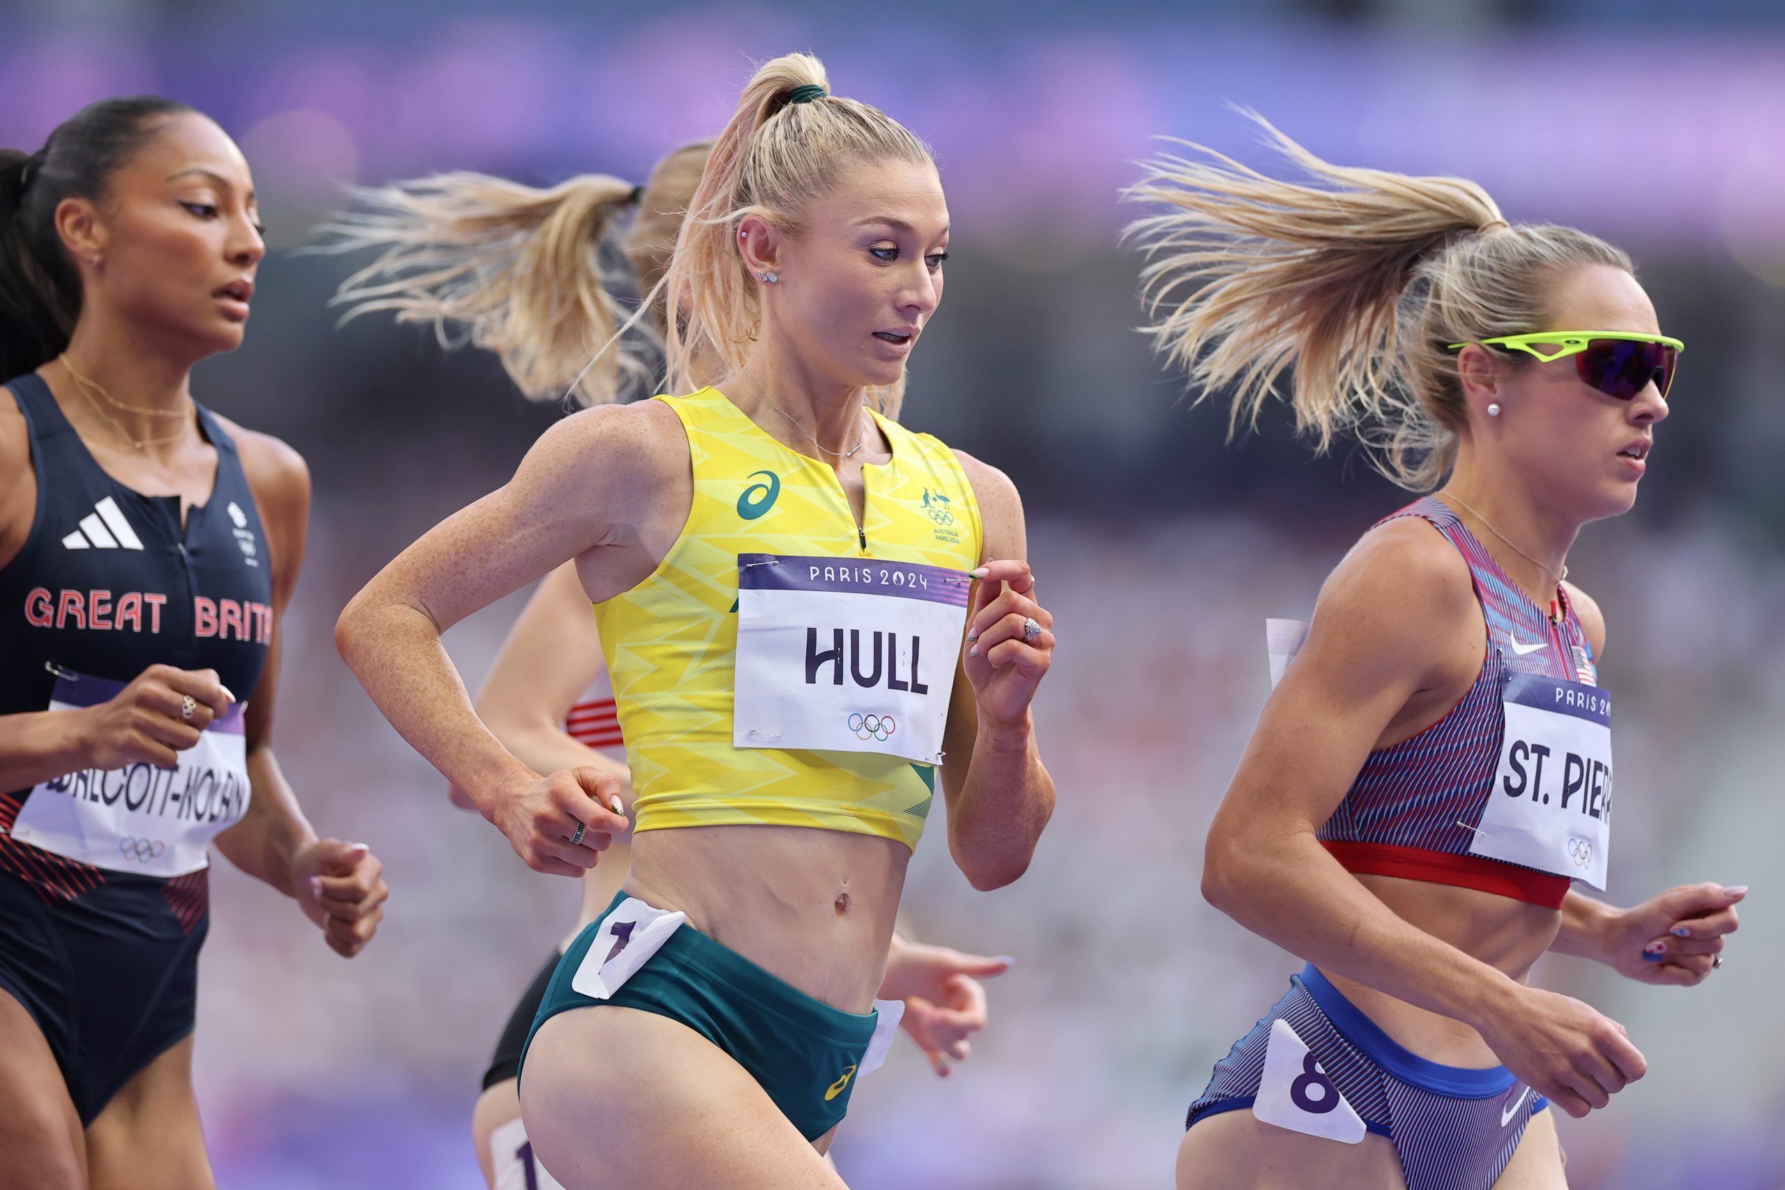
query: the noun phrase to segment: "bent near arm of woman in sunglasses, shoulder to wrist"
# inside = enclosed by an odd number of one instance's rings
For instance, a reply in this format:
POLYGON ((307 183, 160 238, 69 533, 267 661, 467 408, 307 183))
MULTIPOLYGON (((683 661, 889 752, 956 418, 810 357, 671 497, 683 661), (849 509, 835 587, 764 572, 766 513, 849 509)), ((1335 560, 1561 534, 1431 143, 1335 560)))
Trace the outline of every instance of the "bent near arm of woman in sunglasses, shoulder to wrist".
POLYGON ((1460 1021, 1510 978, 1408 924, 1316 831, 1385 733, 1435 719, 1480 667, 1467 567, 1423 521, 1371 532, 1321 592, 1208 830, 1203 896, 1248 930, 1341 976, 1460 1021), (1458 642, 1476 640, 1469 653, 1458 642))

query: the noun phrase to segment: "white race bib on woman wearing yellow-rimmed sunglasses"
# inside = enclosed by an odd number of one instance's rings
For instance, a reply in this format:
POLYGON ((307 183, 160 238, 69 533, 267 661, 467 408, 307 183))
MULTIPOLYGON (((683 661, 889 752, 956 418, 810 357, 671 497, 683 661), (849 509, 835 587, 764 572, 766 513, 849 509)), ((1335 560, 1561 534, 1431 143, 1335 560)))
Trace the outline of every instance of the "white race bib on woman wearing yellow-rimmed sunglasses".
POLYGON ((1612 842, 1612 698, 1582 682, 1507 674, 1507 735, 1473 855, 1605 888, 1612 842))

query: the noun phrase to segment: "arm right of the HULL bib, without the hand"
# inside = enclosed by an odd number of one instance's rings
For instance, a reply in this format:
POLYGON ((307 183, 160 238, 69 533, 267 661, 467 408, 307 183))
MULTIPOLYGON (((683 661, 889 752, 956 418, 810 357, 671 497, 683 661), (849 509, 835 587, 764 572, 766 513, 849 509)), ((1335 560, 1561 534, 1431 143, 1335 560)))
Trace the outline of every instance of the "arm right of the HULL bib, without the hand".
MULTIPOLYGON (((985 555, 1026 560, 1028 535, 1016 485, 971 455, 957 455, 973 482, 985 555)), ((1028 869, 1041 831, 1053 817, 1053 778, 1041 764, 1028 701, 1014 710, 982 707, 962 662, 942 749, 948 756, 941 767, 948 851, 975 888, 1001 888, 1028 869)))

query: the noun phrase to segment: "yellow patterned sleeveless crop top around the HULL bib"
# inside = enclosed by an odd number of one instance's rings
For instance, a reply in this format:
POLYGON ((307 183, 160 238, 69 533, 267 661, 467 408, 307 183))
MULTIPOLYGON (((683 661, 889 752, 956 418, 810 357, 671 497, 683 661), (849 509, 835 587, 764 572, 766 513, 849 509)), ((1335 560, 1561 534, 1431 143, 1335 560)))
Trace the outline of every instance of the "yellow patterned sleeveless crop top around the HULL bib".
POLYGON ((737 555, 971 571, 984 560, 984 533, 966 471, 937 439, 875 414, 892 460, 862 467, 857 530, 835 471, 775 441, 718 389, 655 400, 687 432, 694 501, 657 569, 594 605, 637 794, 634 830, 812 826, 916 847, 934 765, 732 744, 737 555))

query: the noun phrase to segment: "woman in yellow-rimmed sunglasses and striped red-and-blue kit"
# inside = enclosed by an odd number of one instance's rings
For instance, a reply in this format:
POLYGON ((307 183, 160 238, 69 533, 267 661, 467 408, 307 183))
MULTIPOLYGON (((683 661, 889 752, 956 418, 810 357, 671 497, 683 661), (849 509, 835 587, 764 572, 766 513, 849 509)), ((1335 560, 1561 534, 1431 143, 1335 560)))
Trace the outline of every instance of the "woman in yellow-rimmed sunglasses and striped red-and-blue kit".
POLYGON ((1605 888, 1614 781, 1605 621, 1565 555, 1635 501, 1681 344, 1612 244, 1264 127, 1314 186, 1189 146, 1132 191, 1166 209, 1137 225, 1151 330, 1235 425, 1292 368, 1319 448, 1355 432, 1430 494, 1312 624, 1267 624, 1274 690, 1203 894, 1307 967, 1191 1104, 1178 1186, 1565 1186, 1546 1108, 1605 1108, 1646 1063, 1532 965, 1696 985, 1746 892, 1573 888, 1605 888))

